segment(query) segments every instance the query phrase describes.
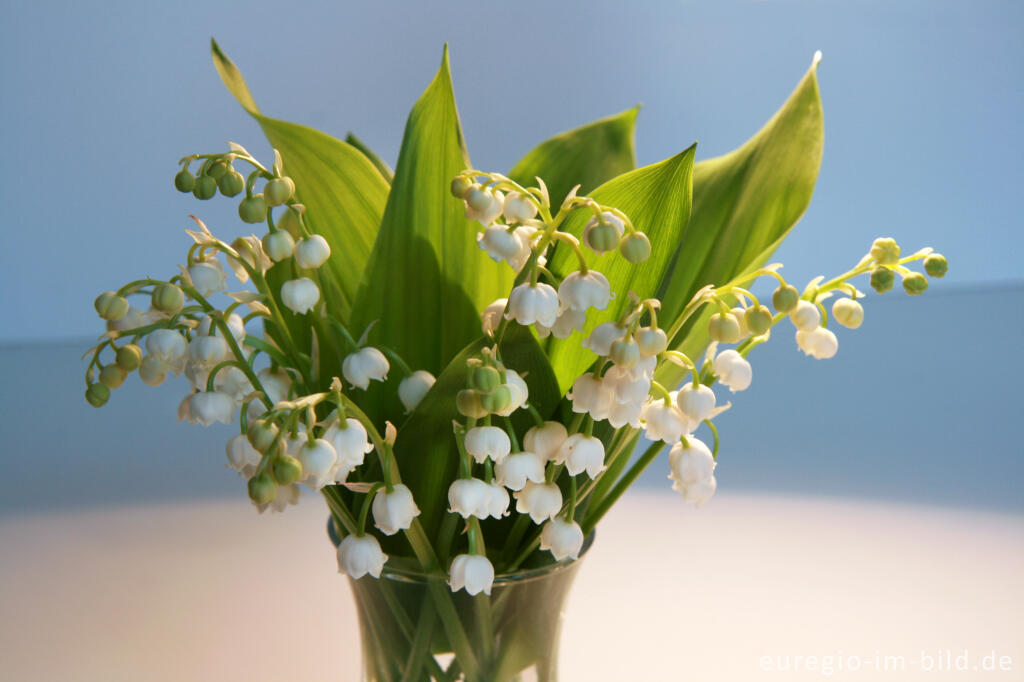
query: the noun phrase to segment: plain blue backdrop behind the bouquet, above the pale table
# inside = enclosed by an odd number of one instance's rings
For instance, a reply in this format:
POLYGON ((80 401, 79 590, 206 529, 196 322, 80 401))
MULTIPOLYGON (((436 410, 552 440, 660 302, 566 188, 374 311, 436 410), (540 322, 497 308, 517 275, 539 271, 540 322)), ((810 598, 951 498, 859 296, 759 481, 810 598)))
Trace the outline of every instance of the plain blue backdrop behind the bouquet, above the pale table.
MULTIPOLYGON (((825 153, 811 208, 777 256, 795 280, 846 269, 881 235, 932 245, 949 275, 866 301, 817 363, 786 332, 721 418, 720 489, 1024 508, 1016 424, 1024 139, 1019 2, 2 2, 0 511, 244 496, 229 431, 173 423, 180 390, 136 378, 102 411, 78 361, 92 300, 183 258, 186 215, 242 233, 234 204, 175 193, 175 162, 225 140, 266 156, 224 90, 209 38, 264 113, 394 162, 404 118, 452 46, 473 162, 643 103, 647 164, 754 134, 815 50, 825 153)), ((668 484, 656 464, 645 481, 668 484), (656 471, 654 471, 656 469, 656 471), (656 476, 655 476, 656 474, 656 476)), ((240 503, 244 499, 240 499, 240 503)))

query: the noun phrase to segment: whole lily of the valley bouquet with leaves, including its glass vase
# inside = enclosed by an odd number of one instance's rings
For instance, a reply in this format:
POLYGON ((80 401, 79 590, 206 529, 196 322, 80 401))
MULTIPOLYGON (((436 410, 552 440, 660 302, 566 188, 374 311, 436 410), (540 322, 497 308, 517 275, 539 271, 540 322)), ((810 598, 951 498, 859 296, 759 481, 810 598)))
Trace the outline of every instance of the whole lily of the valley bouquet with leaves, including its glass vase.
POLYGON ((673 487, 706 503, 714 420, 770 336, 831 357, 864 316, 854 280, 916 295, 928 279, 910 264, 946 269, 891 239, 803 288, 767 264, 817 176, 817 58, 725 157, 694 164, 694 145, 635 169, 631 110, 498 173, 469 161, 445 52, 392 173, 354 137, 260 114, 213 52, 274 158, 229 143, 182 159, 174 184, 234 198, 255 233, 226 243, 196 218, 176 273, 100 295, 86 398, 131 372, 184 374, 178 419, 237 425, 227 462, 257 509, 323 496, 338 565, 366 592, 368 679, 550 668, 538 628, 514 634, 530 597, 498 593, 571 564, 665 450, 673 487), (403 591, 417 580, 422 598, 403 591))

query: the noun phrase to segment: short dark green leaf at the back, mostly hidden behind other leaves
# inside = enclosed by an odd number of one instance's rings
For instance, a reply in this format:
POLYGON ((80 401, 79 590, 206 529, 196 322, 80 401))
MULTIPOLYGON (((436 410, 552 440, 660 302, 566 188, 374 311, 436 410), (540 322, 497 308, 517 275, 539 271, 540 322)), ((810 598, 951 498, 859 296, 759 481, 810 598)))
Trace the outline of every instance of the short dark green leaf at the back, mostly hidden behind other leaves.
POLYGON ((594 121, 545 140, 534 147, 509 177, 528 186, 540 176, 557 207, 580 184, 587 194, 602 182, 636 168, 633 131, 639 106, 594 121))

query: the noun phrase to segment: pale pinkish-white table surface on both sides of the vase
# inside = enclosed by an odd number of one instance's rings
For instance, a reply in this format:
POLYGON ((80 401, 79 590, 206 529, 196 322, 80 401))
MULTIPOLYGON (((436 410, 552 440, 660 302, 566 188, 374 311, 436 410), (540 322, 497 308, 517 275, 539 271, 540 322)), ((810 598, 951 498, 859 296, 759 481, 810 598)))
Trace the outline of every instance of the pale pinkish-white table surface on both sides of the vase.
MULTIPOLYGON (((0 519, 0 678, 356 680, 325 519, 315 498, 0 519)), ((570 595, 562 679, 1024 680, 1022 612, 1024 516, 634 491, 570 595)))

